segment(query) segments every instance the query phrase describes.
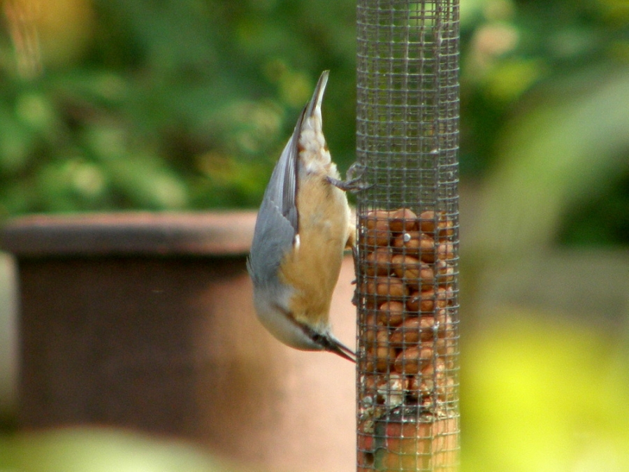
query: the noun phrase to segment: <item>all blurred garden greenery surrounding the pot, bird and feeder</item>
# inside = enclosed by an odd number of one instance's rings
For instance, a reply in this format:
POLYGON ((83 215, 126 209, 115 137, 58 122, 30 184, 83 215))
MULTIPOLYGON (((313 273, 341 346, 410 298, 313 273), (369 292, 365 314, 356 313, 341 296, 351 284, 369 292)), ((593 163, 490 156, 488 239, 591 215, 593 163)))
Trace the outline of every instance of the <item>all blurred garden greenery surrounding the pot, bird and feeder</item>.
MULTIPOLYGON (((256 208, 324 69, 328 144, 342 171, 354 161, 352 1, 0 5, 4 220, 256 208)), ((0 469, 96 470, 70 443, 115 470, 137 470, 120 444, 143 470, 212 467, 159 443, 174 462, 151 468, 144 438, 13 436, 10 257, 1 269, 0 469), (57 469, 24 462, 35 449, 57 469)), ((629 471, 626 0, 461 0, 461 273, 463 471, 629 471)))

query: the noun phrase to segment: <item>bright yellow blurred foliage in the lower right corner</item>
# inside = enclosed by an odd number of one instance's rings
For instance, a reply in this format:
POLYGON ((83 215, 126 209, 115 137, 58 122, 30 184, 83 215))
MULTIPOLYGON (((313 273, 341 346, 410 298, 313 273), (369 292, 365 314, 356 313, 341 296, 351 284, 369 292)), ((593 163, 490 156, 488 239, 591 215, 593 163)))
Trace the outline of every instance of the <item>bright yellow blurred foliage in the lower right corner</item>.
POLYGON ((627 352, 614 336, 556 313, 496 315, 462 340, 462 470, 628 471, 627 352))

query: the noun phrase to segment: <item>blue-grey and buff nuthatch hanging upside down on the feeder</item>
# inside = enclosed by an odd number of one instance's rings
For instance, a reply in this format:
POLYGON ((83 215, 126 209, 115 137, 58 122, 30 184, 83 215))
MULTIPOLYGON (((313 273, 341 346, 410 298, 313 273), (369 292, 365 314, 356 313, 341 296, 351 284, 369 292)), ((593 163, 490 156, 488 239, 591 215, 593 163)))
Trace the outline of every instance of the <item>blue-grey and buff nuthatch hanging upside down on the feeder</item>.
POLYGON ((324 71, 275 164, 247 269, 259 320, 275 338, 292 348, 327 350, 353 362, 354 352, 331 333, 328 317, 343 251, 355 241, 344 191, 364 187, 358 178, 340 180, 331 160, 321 128, 327 82, 324 71))

